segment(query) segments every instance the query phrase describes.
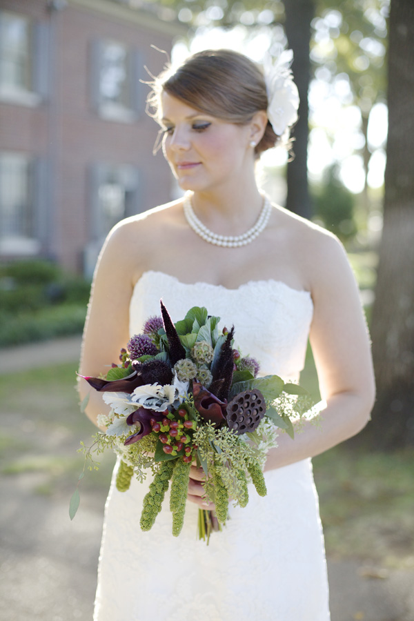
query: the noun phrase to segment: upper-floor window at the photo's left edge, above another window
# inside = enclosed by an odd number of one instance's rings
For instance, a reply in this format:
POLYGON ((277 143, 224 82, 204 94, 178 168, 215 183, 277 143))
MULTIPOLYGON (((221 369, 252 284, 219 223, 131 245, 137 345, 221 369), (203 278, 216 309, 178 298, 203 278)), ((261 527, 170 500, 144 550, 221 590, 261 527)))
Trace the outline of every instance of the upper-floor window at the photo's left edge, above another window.
POLYGON ((0 99, 37 105, 48 90, 48 26, 0 10, 0 99))

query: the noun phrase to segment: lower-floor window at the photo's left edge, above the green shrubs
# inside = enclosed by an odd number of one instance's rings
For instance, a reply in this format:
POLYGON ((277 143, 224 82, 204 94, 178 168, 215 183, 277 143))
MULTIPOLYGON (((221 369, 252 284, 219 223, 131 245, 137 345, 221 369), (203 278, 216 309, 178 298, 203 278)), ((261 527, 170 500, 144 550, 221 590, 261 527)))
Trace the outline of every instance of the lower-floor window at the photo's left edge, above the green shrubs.
POLYGON ((17 153, 0 154, 0 253, 39 253, 34 196, 34 161, 17 153))

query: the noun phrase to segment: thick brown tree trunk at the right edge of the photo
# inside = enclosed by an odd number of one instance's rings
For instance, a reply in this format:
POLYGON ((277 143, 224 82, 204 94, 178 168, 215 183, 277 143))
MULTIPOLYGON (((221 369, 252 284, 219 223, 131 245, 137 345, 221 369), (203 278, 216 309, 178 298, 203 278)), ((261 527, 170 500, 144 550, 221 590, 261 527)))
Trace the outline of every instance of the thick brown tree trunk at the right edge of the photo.
POLYGON ((377 380, 371 446, 414 444, 414 3, 392 0, 384 229, 371 336, 377 380))

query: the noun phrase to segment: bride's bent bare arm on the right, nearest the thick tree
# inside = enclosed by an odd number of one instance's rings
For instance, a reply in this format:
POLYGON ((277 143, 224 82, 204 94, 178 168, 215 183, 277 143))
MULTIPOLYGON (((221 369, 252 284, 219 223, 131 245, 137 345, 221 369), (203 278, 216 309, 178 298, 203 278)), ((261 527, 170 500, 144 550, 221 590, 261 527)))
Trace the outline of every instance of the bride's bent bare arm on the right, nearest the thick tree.
POLYGON ((295 440, 279 436, 266 470, 313 457, 355 435, 368 422, 375 400, 368 330, 344 249, 334 237, 321 235, 315 255, 310 340, 326 408, 320 423, 304 422, 295 440))

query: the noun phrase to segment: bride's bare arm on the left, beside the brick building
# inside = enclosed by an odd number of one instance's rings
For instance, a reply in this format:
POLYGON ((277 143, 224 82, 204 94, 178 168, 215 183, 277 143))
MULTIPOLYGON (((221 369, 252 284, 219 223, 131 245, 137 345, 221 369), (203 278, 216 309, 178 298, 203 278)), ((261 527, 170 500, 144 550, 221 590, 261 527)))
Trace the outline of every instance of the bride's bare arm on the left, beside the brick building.
MULTIPOLYGON (((129 339, 129 304, 134 283, 128 253, 129 228, 125 222, 115 227, 99 255, 92 282, 88 316, 83 330, 79 373, 97 377, 108 365, 119 363, 119 351, 129 339)), ((89 394, 86 415, 97 424, 97 415, 110 411, 98 393, 79 378, 81 400, 89 394)))

